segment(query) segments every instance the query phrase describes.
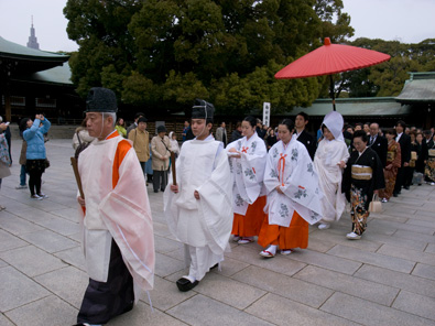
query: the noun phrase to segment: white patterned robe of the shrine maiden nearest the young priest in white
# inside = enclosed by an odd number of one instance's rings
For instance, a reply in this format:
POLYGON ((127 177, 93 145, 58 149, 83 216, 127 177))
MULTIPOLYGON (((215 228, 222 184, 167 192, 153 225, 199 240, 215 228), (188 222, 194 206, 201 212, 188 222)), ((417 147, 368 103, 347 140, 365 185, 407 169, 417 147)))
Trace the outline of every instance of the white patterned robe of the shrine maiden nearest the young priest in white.
POLYGON ((232 176, 232 207, 236 214, 246 215, 248 206, 265 195, 263 176, 268 150, 264 141, 254 132, 228 144, 226 149, 232 176), (231 157, 229 149, 236 149, 241 157, 231 157))

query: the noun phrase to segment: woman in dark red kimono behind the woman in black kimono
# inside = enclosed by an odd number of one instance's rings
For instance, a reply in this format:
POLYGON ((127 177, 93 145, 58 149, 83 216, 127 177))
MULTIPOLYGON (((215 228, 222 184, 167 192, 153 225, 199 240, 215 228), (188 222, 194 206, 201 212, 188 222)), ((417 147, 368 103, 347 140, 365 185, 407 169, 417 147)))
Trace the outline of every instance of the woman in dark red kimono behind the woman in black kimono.
POLYGON ((383 176, 385 180, 385 188, 379 191, 379 197, 382 198, 382 203, 390 200, 393 195, 395 177, 398 176, 398 169, 401 165, 401 152, 400 144, 395 141, 398 135, 395 129, 391 128, 385 131, 388 140, 388 152, 387 152, 387 165, 383 170, 383 176))

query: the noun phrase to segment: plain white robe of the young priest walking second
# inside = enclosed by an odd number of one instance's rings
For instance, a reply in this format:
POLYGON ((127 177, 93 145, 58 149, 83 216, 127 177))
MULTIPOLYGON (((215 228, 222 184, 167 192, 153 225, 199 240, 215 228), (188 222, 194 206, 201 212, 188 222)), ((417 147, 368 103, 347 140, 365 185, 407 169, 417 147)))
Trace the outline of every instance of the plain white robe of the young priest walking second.
POLYGON ((176 160, 178 193, 164 192, 167 226, 186 244, 191 259, 189 276, 200 281, 210 267, 224 260, 232 228, 231 175, 222 143, 186 141, 176 160), (199 193, 199 199, 194 192, 199 193))

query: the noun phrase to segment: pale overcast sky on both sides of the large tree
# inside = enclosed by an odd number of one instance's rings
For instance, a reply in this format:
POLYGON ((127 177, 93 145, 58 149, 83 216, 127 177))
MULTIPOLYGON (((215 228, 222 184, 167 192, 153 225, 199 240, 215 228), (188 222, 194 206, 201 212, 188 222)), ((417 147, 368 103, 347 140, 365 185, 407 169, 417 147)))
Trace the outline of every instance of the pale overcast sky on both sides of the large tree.
MULTIPOLYGON (((342 0, 355 36, 418 43, 435 39, 435 0, 342 0)), ((31 20, 40 50, 76 51, 63 14, 66 0, 0 0, 0 36, 26 45, 31 20)))

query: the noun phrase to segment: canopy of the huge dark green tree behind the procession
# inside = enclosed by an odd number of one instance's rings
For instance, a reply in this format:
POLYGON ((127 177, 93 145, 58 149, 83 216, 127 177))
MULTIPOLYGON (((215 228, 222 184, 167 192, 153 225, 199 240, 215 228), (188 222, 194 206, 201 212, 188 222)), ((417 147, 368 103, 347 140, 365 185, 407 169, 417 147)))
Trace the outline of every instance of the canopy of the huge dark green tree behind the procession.
POLYGON ((218 113, 309 106, 324 78, 276 80, 295 58, 350 37, 341 0, 68 0, 73 83, 116 91, 145 109, 189 108, 196 97, 218 113))

